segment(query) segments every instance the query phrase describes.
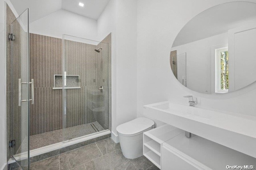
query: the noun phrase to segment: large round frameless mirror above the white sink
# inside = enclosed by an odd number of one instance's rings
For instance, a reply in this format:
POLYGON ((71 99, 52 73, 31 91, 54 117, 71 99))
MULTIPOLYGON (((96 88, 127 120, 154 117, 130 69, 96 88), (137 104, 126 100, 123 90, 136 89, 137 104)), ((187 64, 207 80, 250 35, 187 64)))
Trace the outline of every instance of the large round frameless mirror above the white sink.
POLYGON ((256 81, 256 4, 229 2, 190 20, 170 52, 174 76, 200 93, 227 93, 256 81))

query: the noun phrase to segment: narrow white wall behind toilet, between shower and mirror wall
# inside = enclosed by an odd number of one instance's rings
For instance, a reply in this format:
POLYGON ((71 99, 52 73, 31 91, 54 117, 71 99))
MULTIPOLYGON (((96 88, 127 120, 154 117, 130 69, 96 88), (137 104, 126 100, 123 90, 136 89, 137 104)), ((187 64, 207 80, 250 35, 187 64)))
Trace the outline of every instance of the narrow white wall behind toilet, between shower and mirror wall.
MULTIPOLYGON (((137 116, 137 0, 118 0, 116 51, 117 125, 137 116)), ((112 131, 116 131, 116 128, 112 131)))

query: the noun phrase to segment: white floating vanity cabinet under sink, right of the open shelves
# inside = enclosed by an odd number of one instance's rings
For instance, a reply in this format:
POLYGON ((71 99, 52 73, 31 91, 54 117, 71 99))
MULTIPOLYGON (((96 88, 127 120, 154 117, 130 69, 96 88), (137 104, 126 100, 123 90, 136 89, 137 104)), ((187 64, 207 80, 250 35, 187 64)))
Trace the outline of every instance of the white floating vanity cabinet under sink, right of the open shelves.
POLYGON ((256 158, 185 133, 162 144, 162 170, 225 170, 234 165, 256 167, 256 158))

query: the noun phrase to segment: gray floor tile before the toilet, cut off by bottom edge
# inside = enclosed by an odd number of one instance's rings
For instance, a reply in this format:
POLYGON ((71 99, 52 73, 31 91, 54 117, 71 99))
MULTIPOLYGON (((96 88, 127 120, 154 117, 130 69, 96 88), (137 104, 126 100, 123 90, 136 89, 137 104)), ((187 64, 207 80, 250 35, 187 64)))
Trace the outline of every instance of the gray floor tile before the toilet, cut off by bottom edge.
POLYGON ((130 160, 123 156, 120 149, 85 164, 86 170, 125 170, 129 165, 130 160))

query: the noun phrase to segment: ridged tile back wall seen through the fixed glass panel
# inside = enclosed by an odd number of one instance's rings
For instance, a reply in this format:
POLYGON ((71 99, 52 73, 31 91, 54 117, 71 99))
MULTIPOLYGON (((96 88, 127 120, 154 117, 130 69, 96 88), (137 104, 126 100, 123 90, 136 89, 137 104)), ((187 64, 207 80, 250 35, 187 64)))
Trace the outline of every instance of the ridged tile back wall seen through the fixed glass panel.
POLYGON ((66 127, 96 120, 92 94, 96 86, 96 45, 64 40, 67 75, 79 75, 81 89, 66 90, 66 127))

